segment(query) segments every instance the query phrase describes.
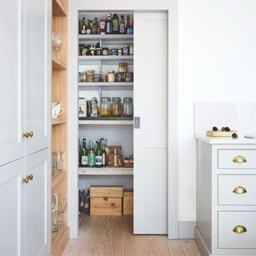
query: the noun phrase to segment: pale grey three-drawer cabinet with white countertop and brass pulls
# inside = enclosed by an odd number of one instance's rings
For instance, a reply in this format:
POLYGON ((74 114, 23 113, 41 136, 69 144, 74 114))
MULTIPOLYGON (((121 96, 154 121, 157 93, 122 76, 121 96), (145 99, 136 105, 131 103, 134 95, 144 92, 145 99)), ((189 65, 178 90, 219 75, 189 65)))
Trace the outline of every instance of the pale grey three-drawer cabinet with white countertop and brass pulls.
POLYGON ((256 255, 256 143, 197 138, 198 245, 204 255, 256 255))

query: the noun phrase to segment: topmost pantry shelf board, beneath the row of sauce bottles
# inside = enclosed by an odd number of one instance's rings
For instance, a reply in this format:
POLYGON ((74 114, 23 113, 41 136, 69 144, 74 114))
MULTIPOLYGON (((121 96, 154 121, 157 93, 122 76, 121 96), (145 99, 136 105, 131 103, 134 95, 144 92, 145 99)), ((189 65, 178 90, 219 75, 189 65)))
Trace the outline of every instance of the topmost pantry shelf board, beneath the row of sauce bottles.
POLYGON ((133 34, 79 34, 79 41, 95 41, 102 39, 105 41, 133 40, 133 34))

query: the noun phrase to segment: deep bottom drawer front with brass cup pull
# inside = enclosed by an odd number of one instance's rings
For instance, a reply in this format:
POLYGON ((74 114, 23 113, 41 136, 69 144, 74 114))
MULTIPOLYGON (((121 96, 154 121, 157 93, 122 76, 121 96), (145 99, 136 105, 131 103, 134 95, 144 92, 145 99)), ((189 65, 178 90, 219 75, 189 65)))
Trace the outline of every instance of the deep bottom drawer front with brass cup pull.
POLYGON ((218 248, 256 248, 256 212, 218 212, 218 248))

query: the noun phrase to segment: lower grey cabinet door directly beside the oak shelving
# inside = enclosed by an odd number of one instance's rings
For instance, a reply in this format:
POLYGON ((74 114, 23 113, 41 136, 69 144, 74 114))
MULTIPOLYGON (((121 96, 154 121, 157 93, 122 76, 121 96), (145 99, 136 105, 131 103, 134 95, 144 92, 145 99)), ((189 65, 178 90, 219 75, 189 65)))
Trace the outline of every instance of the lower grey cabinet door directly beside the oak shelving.
POLYGON ((26 256, 50 255, 50 165, 49 150, 26 157, 25 186, 26 256))

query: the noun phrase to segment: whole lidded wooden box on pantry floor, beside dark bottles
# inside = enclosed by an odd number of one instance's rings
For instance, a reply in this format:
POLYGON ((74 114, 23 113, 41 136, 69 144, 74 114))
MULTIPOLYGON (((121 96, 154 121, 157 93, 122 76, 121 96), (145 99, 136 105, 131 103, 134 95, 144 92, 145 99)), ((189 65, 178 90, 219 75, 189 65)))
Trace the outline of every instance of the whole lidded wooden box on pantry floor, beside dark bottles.
POLYGON ((122 186, 90 186, 90 215, 122 216, 122 186))

